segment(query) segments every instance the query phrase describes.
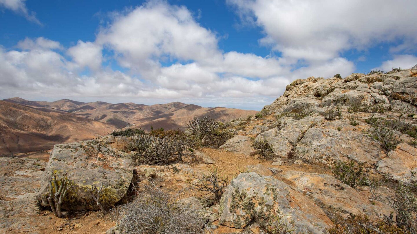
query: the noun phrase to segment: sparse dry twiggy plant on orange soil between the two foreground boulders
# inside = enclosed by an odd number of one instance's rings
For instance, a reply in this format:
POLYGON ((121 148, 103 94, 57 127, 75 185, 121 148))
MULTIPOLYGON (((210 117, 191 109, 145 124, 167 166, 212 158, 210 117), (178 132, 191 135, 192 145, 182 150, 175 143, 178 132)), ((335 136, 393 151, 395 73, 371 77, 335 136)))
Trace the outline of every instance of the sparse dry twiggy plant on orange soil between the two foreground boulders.
POLYGON ((194 179, 197 179, 197 181, 191 183, 191 186, 202 192, 213 193, 216 201, 220 200, 223 190, 228 184, 227 177, 221 177, 217 168, 210 170, 208 174, 203 174, 201 178, 194 177, 194 179))

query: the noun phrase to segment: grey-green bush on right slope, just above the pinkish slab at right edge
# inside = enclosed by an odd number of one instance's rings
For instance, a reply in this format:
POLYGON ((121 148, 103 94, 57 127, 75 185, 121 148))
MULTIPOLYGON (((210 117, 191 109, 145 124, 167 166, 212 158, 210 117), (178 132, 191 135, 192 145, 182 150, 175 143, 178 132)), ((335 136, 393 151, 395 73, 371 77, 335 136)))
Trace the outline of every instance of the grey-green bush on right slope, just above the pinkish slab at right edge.
POLYGON ((372 126, 370 137, 377 140, 384 149, 393 150, 401 142, 399 140, 400 134, 397 133, 400 126, 399 121, 370 117, 366 122, 372 126))

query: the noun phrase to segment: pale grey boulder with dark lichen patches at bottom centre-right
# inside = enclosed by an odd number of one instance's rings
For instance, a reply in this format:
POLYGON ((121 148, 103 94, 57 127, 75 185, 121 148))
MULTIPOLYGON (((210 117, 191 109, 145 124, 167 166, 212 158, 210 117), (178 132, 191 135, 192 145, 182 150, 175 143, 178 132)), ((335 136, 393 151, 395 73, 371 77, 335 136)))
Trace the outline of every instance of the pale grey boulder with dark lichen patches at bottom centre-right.
POLYGON ((241 173, 231 181, 219 207, 219 224, 244 228, 252 221, 272 230, 288 225, 295 233, 323 233, 332 221, 310 199, 271 176, 241 173))

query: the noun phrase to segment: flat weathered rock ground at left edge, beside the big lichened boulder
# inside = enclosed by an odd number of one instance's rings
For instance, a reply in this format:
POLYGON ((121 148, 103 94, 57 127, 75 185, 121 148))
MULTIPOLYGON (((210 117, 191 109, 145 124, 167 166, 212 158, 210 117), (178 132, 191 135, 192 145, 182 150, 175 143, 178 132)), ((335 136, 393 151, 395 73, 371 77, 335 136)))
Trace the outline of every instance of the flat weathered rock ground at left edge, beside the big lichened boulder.
POLYGON ((45 224, 36 193, 46 162, 0 157, 0 233, 33 232, 45 224))

